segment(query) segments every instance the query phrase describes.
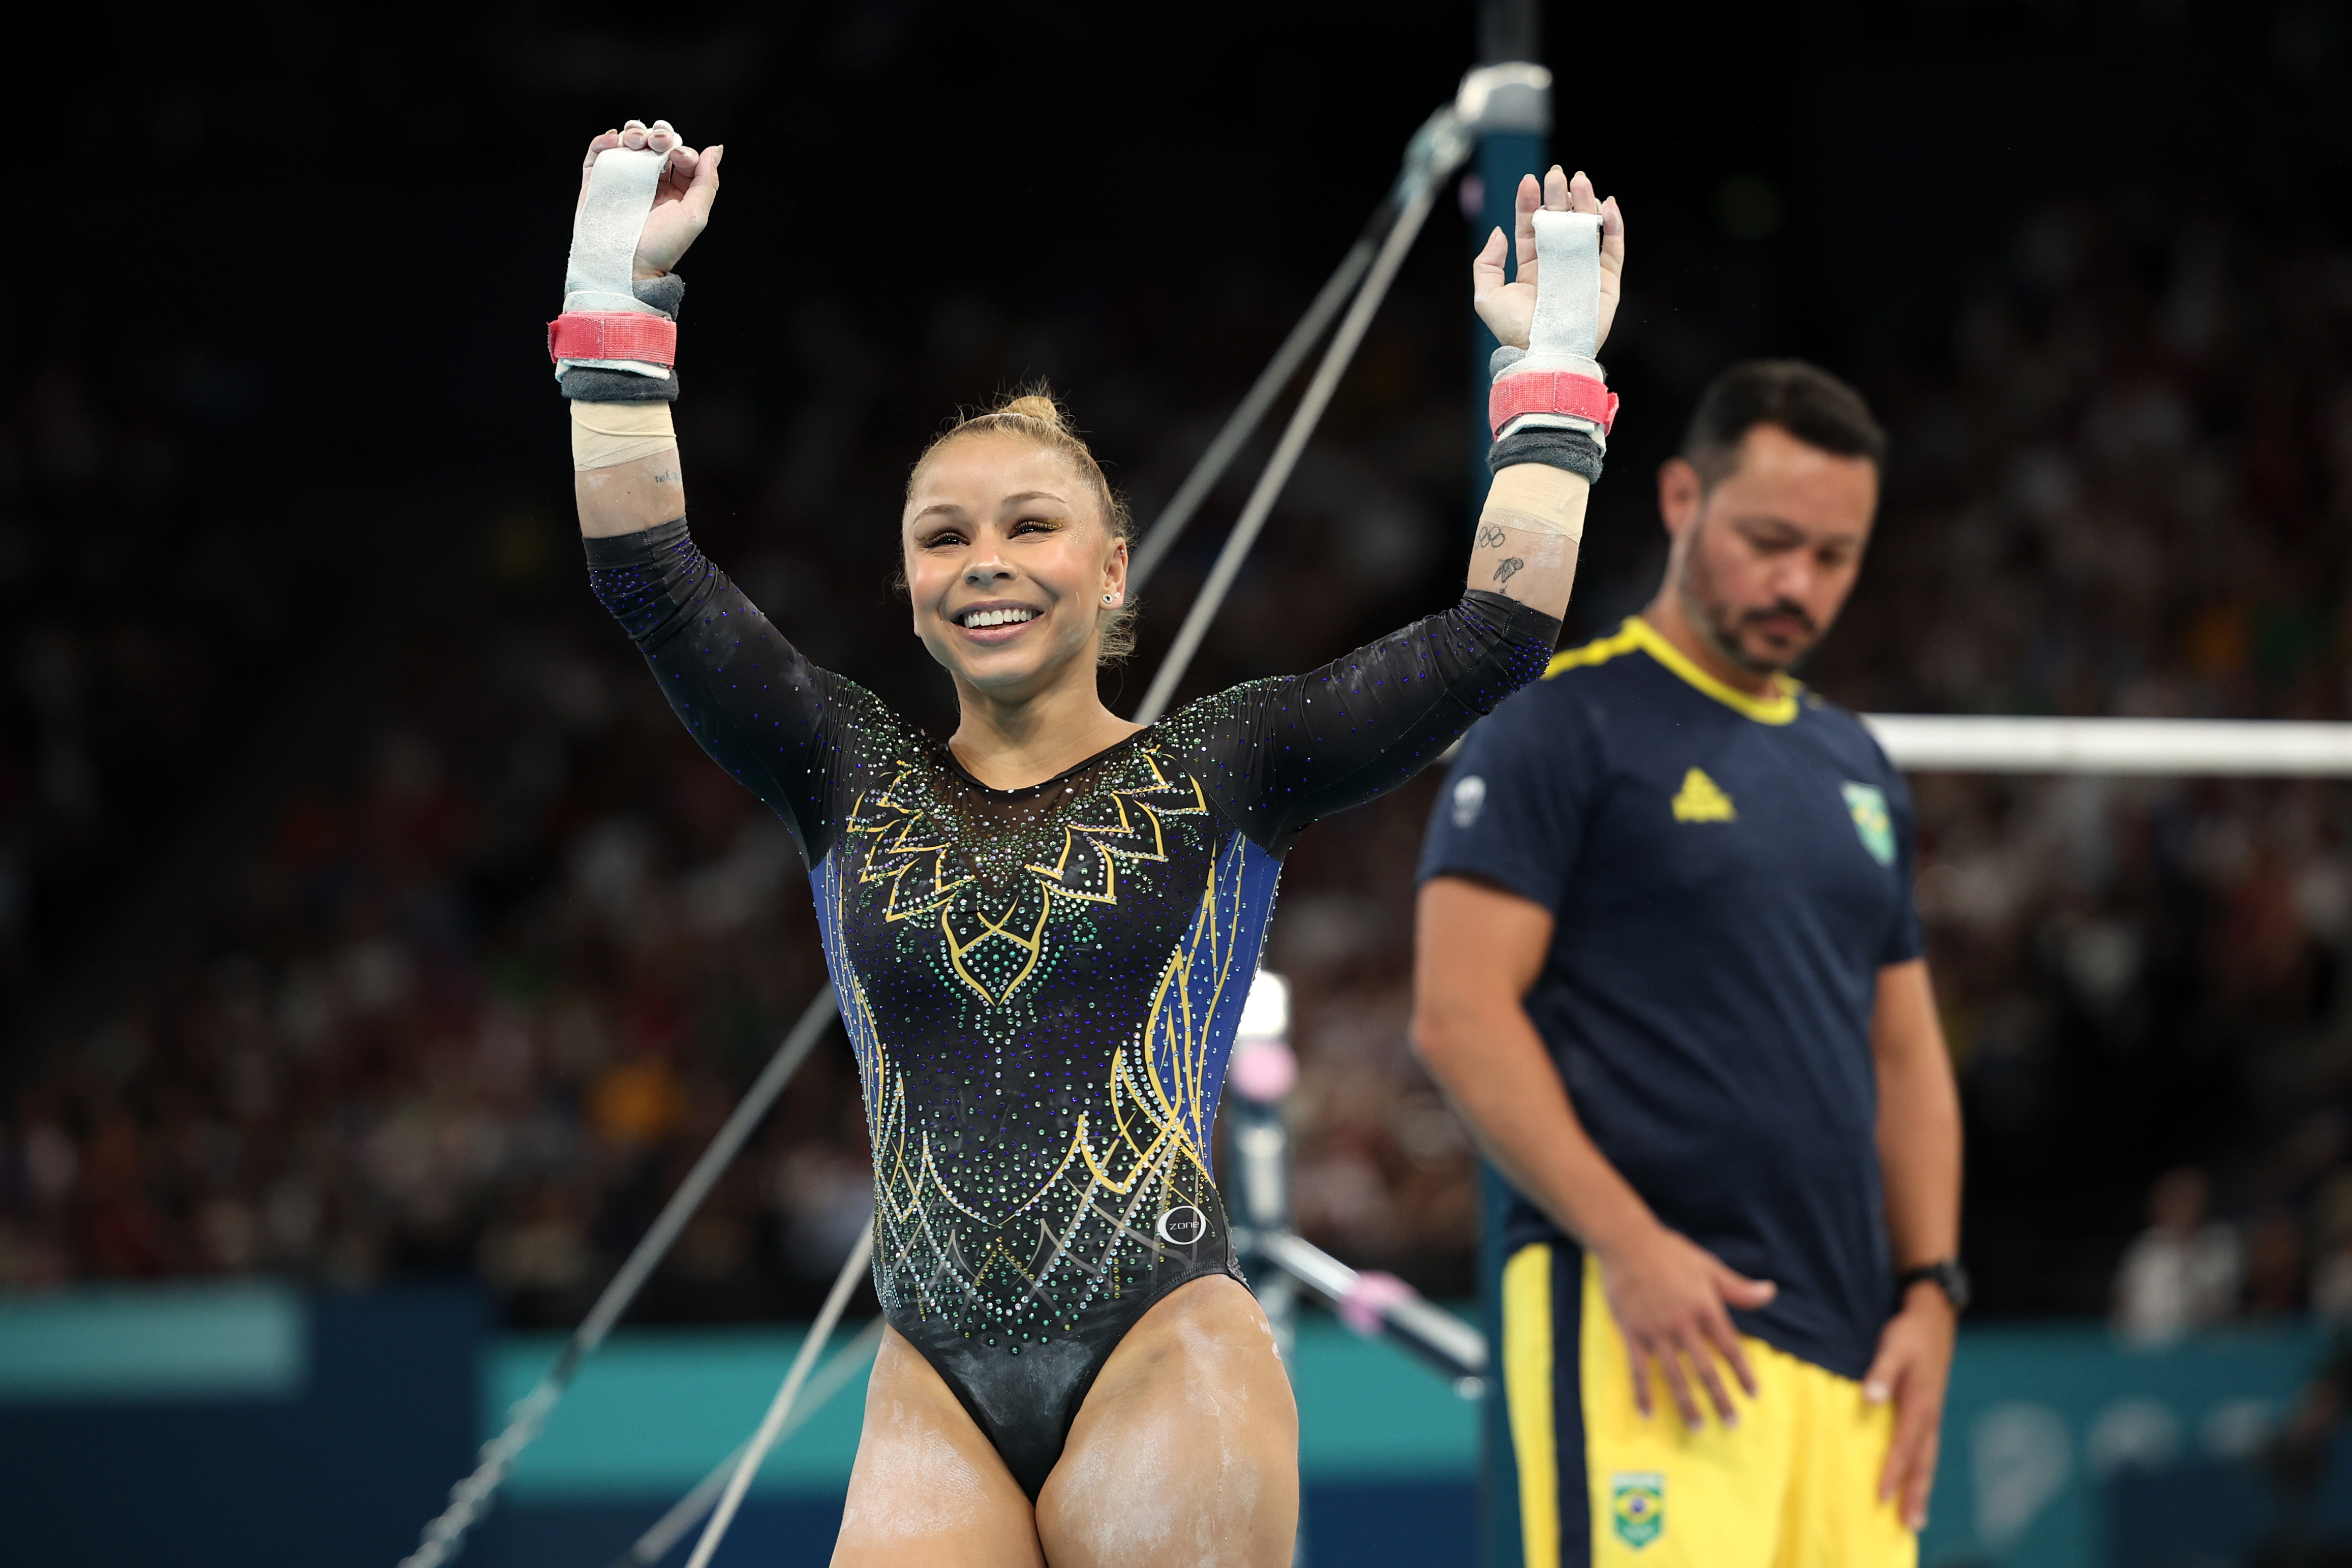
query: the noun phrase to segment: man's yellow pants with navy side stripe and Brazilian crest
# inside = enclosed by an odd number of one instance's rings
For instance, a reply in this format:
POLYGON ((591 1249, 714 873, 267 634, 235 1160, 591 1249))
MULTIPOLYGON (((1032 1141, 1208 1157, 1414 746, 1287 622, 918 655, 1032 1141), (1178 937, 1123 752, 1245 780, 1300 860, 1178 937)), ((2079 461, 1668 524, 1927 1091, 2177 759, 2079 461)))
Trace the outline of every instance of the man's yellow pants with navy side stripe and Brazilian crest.
POLYGON ((1917 1566, 1919 1540, 1877 1490, 1893 1410, 1849 1378, 1743 1345, 1757 1399, 1726 1373, 1738 1427, 1712 1410, 1684 1427, 1656 1368, 1644 1418, 1599 1267, 1571 1248, 1512 1253, 1503 1392, 1526 1568, 1917 1566))

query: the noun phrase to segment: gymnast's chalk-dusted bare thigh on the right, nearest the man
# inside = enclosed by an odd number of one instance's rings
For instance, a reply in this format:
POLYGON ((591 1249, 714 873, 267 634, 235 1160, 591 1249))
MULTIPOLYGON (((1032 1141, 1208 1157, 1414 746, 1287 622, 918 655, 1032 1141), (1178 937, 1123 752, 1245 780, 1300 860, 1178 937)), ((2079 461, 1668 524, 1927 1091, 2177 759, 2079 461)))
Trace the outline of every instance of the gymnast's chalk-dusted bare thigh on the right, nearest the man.
POLYGON ((1037 1495, 1054 1568, 1289 1568, 1298 1403, 1247 1286, 1169 1291, 1103 1361, 1037 1495))

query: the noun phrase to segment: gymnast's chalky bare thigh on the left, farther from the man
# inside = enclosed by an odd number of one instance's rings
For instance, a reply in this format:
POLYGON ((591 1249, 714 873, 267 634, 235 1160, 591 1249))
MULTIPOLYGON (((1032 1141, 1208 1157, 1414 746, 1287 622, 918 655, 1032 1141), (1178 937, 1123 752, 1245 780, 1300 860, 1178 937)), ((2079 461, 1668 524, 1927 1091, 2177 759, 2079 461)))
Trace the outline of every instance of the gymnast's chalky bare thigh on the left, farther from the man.
POLYGON ((835 1568, 1044 1568, 1037 1516, 1004 1460, 896 1328, 866 1382, 835 1568))

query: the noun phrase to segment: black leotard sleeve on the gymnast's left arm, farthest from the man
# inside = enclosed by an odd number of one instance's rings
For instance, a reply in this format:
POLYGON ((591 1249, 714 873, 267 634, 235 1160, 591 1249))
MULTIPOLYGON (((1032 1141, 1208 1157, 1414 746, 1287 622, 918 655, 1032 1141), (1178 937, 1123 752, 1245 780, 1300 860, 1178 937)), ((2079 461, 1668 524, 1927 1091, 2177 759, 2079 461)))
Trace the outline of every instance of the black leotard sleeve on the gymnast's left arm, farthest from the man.
POLYGON ((833 844, 835 802, 849 799, 870 766, 856 736, 896 729, 889 708, 811 665, 694 548, 684 517, 583 543, 595 597, 635 639, 670 708, 793 827, 814 865, 833 844))

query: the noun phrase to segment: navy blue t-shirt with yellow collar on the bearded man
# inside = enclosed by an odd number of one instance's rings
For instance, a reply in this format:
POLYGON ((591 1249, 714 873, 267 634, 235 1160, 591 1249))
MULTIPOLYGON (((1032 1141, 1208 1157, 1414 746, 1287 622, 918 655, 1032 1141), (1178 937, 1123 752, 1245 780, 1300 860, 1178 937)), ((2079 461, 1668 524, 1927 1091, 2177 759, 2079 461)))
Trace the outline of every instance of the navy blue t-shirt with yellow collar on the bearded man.
MULTIPOLYGON (((1658 1218, 1780 1286, 1740 1331, 1860 1378, 1893 1312, 1870 1016, 1919 957, 1910 795, 1870 733, 1632 618, 1470 731, 1421 853, 1446 875, 1557 919, 1526 1011, 1658 1218)), ((1515 1194, 1529 1241, 1569 1239, 1515 1194)))

